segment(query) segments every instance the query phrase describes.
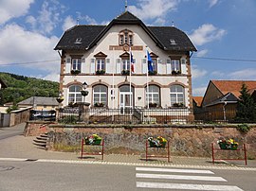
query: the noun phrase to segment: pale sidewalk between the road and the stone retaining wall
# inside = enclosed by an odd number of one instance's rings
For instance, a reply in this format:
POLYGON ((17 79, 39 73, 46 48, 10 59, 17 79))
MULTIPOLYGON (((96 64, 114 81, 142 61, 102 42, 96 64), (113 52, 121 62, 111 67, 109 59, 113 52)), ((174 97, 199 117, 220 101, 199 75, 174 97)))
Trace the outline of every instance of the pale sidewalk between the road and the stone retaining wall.
MULTIPOLYGON (((10 128, 10 130, 21 130, 22 126, 10 128)), ((0 134, 5 133, 0 130, 0 134)), ((165 166, 193 166, 197 168, 241 168, 256 170, 256 160, 248 160, 247 165, 245 161, 229 161, 227 162, 215 162, 211 163, 211 158, 198 158, 198 157, 180 157, 172 156, 171 163, 167 163, 167 159, 151 159, 148 162, 145 161, 145 154, 141 155, 122 155, 122 154, 109 154, 104 155, 103 161, 101 156, 85 156, 80 158, 80 153, 75 152, 58 152, 58 151, 46 151, 42 148, 37 148, 33 145, 33 139, 35 137, 25 137, 23 135, 16 135, 9 138, 0 140, 0 160, 7 158, 29 159, 29 160, 60 160, 71 162, 90 162, 96 164, 109 164, 109 165, 165 165, 165 166)), ((8 160, 8 159, 7 159, 8 160)))

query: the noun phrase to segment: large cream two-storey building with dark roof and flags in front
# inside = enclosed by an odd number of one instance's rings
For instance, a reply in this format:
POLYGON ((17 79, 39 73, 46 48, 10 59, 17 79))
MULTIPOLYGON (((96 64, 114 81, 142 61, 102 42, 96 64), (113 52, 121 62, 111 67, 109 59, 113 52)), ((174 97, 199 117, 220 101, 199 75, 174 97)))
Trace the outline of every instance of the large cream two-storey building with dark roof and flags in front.
POLYGON ((174 26, 146 26, 125 11, 107 26, 71 27, 54 49, 62 51, 63 106, 88 102, 119 114, 134 108, 192 109, 190 57, 196 48, 174 26))

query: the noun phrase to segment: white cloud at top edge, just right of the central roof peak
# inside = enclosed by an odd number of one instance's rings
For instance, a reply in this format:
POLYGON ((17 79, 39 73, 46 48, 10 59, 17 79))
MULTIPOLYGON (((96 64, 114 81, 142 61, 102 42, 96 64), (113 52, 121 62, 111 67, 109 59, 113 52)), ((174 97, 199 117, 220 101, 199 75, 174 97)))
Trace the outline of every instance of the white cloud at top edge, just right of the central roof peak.
POLYGON ((163 18, 168 11, 176 9, 178 0, 138 0, 136 6, 128 6, 128 10, 133 12, 142 20, 159 19, 163 23, 163 18))

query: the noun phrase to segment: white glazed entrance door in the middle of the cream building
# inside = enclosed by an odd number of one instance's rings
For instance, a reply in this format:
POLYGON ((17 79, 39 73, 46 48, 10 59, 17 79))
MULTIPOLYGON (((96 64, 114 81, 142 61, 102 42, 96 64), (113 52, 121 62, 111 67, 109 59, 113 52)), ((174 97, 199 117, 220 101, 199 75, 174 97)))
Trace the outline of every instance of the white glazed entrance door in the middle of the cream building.
POLYGON ((133 109, 133 93, 120 92, 120 113, 132 113, 133 109))

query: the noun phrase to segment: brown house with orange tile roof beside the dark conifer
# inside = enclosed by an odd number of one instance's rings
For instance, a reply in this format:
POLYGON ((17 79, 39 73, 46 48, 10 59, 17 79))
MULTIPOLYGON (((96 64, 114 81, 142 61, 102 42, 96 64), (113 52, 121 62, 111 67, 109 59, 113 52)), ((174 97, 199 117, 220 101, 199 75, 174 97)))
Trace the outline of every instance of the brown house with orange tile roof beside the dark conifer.
POLYGON ((242 84, 247 85, 251 96, 255 96, 256 81, 253 80, 210 80, 202 100, 201 115, 196 113, 195 119, 232 120, 236 115, 236 106, 242 84))

